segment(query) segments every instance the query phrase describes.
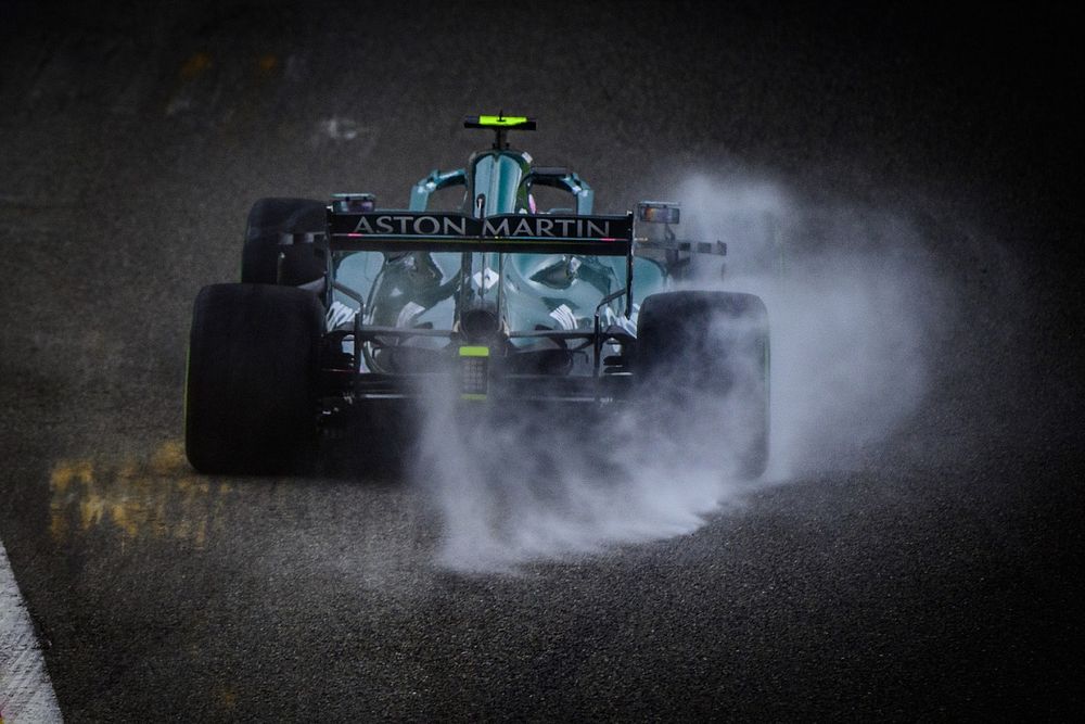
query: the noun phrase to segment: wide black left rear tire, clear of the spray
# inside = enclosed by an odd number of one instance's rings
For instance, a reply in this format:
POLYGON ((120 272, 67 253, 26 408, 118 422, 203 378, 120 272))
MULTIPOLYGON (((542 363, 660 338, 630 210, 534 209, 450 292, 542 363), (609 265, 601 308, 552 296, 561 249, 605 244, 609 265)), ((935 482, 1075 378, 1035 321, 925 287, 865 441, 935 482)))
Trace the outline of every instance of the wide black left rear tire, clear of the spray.
POLYGON ((314 461, 323 313, 311 293, 213 284, 196 296, 184 449, 204 473, 290 473, 314 461))

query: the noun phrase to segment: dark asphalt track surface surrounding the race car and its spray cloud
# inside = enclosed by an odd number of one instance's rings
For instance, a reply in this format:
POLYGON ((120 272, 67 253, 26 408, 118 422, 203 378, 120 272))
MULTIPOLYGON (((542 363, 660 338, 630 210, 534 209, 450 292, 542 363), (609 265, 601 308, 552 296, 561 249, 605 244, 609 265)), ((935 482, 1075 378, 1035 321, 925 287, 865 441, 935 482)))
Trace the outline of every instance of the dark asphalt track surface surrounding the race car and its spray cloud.
POLYGON ((1080 714, 1069 18, 2 8, 0 535, 66 719, 1080 714), (601 211, 725 168, 918 219, 956 305, 921 412, 848 472, 519 575, 435 567, 395 474, 195 475, 191 300, 252 201, 401 203, 498 107, 601 211))

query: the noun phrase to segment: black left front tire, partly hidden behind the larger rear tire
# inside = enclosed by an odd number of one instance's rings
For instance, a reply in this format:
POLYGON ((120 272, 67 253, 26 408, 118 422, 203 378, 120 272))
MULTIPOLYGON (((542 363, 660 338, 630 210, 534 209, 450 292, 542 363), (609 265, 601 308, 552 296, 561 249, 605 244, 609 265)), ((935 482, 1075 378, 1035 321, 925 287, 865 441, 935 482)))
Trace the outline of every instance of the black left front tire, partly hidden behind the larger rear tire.
POLYGON ((323 203, 310 199, 260 199, 253 204, 241 252, 242 283, 296 287, 319 279, 324 274, 324 262, 314 253, 312 245, 283 246, 279 239, 284 233, 322 233, 327 214, 323 203), (281 280, 280 253, 285 255, 281 280))

